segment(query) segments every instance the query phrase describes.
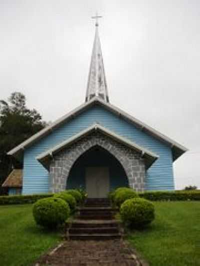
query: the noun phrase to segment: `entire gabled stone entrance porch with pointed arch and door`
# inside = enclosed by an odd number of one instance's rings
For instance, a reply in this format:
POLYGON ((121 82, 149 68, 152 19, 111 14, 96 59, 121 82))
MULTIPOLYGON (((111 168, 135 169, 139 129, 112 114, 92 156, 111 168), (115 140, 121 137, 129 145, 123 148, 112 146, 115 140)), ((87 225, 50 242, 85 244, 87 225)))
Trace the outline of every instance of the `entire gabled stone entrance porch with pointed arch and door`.
POLYGON ((61 142, 36 159, 49 171, 49 191, 86 189, 89 197, 106 197, 117 187, 143 191, 145 172, 158 157, 98 125, 61 142))

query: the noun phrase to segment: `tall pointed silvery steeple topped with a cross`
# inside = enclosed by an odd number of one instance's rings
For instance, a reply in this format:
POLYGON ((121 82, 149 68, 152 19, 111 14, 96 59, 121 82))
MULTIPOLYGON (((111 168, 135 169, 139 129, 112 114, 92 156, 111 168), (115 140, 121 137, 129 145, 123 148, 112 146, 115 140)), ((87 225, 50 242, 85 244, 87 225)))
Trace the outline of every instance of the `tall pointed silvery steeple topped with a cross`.
POLYGON ((85 102, 89 101, 93 97, 99 97, 105 102, 109 102, 102 52, 100 48, 100 39, 98 36, 98 18, 100 17, 101 16, 97 14, 92 16, 92 18, 96 19, 95 37, 91 54, 85 102))

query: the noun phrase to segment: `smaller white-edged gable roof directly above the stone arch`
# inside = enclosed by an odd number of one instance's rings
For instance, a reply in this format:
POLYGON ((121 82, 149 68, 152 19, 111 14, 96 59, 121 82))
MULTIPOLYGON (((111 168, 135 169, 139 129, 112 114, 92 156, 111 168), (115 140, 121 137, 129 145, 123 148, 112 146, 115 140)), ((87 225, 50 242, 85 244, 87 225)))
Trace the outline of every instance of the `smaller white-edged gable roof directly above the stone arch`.
POLYGON ((145 166, 146 168, 149 168, 152 163, 159 157, 155 153, 152 153, 148 151, 147 149, 137 145, 136 143, 129 141, 114 132, 100 126, 99 124, 93 124, 92 126, 80 131, 79 133, 75 134, 71 138, 62 141, 58 145, 50 148, 49 150, 39 154, 36 159, 45 167, 48 169, 48 163, 49 160, 52 159, 53 155, 55 155, 57 152, 61 151, 62 149, 66 148, 67 146, 73 144, 77 140, 81 139, 84 136, 87 136, 88 134, 92 132, 101 132, 104 135, 114 139, 117 142, 122 143, 123 145, 135 150, 136 152, 139 152, 141 154, 141 157, 144 158, 145 166))

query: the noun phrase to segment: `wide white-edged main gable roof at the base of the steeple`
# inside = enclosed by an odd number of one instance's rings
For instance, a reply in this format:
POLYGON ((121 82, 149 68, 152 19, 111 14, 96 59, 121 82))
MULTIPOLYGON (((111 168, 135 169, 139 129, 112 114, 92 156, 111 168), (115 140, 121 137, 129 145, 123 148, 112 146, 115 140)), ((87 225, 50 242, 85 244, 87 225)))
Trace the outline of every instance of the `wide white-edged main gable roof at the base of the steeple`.
POLYGON ((75 116, 77 116, 78 114, 82 113, 84 110, 90 108, 91 106, 95 104, 98 104, 104 107, 105 109, 111 111, 112 113, 122 117, 124 120, 132 123, 134 126, 136 126, 141 131, 144 131, 147 134, 153 136, 154 138, 169 145, 172 150, 173 161, 175 161, 180 155, 182 155, 184 152, 187 151, 187 149, 184 146, 166 137, 165 135, 161 134, 159 131, 151 128, 150 126, 142 123, 141 121, 127 114, 126 112, 122 111, 118 107, 115 107, 114 105, 107 103, 98 97, 94 97, 90 101, 81 104, 79 107, 75 108, 73 111, 62 116, 61 118, 57 119, 55 122, 50 124, 49 126, 45 127, 44 129, 40 130, 39 132, 37 132, 36 134, 31 136, 27 140, 23 141, 21 144, 19 144, 18 146, 10 150, 7 153, 7 155, 21 156, 25 148, 31 146, 33 143, 43 138, 44 136, 48 135, 49 132, 59 127, 61 124, 69 121, 70 119, 74 118, 75 116))

